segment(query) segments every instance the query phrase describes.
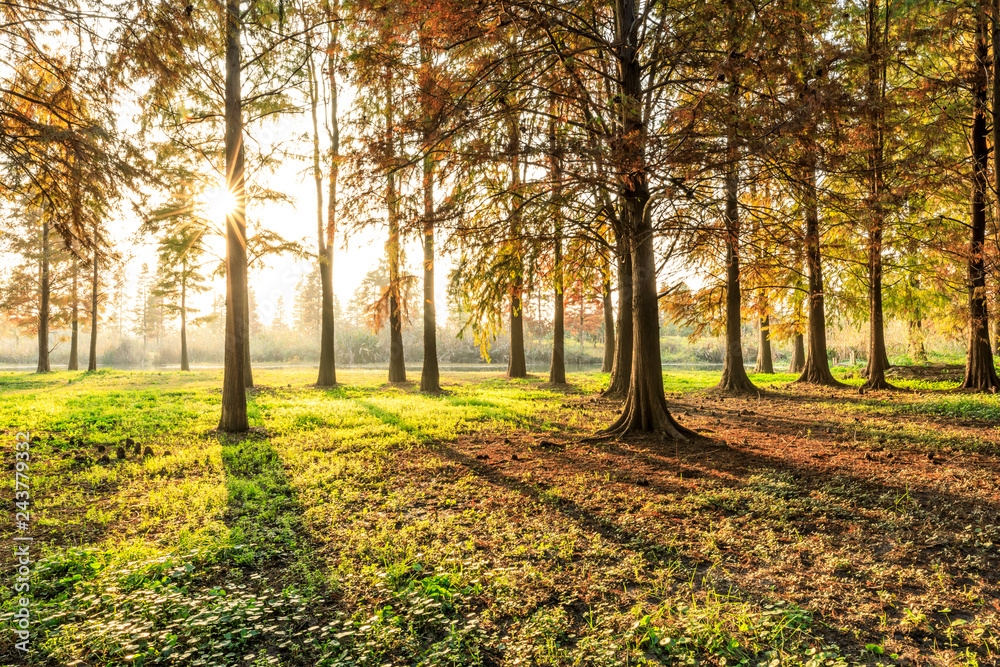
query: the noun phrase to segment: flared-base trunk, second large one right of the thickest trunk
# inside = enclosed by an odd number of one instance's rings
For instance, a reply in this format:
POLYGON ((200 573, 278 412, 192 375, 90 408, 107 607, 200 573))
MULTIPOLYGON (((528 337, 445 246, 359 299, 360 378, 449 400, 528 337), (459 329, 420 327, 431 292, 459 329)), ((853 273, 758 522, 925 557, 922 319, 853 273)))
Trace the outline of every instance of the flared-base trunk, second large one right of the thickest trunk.
MULTIPOLYGON (((807 149, 812 150, 812 149, 807 149)), ((806 265, 809 269, 809 354, 798 382, 829 387, 843 386, 830 372, 826 356, 826 313, 823 308, 823 268, 820 257, 819 210, 816 198, 816 158, 810 154, 803 169, 803 204, 806 217, 806 265)))

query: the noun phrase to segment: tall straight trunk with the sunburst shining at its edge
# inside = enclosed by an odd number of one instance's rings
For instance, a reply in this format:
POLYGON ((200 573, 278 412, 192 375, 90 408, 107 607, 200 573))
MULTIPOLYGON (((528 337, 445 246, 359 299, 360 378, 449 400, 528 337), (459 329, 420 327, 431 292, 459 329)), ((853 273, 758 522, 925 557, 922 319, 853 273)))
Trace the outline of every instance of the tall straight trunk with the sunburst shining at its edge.
POLYGON ((226 347, 219 430, 243 433, 247 419, 249 343, 246 183, 243 175, 243 105, 240 99, 240 3, 226 0, 226 187, 234 199, 226 215, 226 347))

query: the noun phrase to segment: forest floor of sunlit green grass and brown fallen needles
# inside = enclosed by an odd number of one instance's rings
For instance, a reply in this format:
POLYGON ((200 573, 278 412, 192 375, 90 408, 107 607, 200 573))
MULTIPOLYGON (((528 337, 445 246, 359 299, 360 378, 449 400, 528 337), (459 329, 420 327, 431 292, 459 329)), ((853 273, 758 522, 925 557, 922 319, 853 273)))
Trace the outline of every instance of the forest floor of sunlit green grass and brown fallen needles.
POLYGON ((668 373, 678 444, 588 440, 601 374, 313 379, 258 372, 236 438, 218 372, 0 373, 30 664, 1000 665, 1000 397, 668 373))

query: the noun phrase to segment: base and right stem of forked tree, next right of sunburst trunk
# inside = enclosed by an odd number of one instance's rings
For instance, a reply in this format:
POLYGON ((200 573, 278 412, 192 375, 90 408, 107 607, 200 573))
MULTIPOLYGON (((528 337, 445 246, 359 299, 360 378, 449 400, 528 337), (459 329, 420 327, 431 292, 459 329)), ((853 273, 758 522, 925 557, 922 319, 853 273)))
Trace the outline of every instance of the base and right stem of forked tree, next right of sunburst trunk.
MULTIPOLYGON (((333 3, 333 13, 337 12, 339 5, 339 2, 333 3)), ((328 19, 330 21, 330 41, 327 48, 327 79, 330 84, 330 125, 328 128, 330 135, 330 180, 326 202, 326 238, 324 240, 324 233, 320 230, 318 239, 320 288, 323 295, 320 316, 319 377, 316 379, 316 385, 319 387, 332 387, 337 384, 336 322, 333 312, 333 248, 336 245, 337 236, 337 185, 340 175, 340 116, 336 67, 340 24, 334 20, 333 14, 329 15, 328 19)))

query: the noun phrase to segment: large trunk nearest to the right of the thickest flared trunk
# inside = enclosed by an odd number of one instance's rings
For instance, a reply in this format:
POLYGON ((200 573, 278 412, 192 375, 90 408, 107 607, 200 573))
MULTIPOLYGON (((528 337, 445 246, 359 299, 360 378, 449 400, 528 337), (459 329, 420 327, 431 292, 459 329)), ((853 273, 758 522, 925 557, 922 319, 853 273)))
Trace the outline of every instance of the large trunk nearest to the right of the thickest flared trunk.
MULTIPOLYGON (((730 112, 737 114, 735 82, 730 90, 730 112)), ((735 119, 734 119, 735 120, 735 119)), ((739 149, 736 129, 729 123, 726 135, 726 357, 722 378, 716 389, 733 394, 756 394, 757 387, 747 377, 743 365, 740 307, 740 211, 739 211, 739 149)))

